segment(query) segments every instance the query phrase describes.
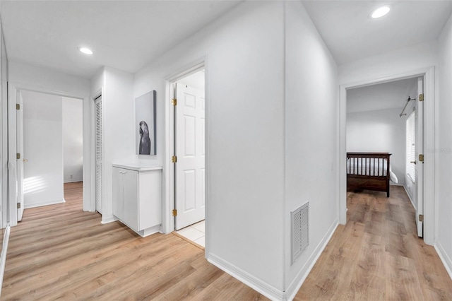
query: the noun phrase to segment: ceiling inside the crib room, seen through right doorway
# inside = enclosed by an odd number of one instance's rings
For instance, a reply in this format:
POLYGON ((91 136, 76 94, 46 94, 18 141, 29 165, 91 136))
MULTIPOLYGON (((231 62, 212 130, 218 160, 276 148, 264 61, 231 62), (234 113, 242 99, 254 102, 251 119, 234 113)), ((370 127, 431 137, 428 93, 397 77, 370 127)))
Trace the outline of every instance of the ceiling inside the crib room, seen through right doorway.
POLYGON ((407 98, 416 98, 416 95, 417 78, 347 89, 347 113, 388 109, 402 112, 407 98))

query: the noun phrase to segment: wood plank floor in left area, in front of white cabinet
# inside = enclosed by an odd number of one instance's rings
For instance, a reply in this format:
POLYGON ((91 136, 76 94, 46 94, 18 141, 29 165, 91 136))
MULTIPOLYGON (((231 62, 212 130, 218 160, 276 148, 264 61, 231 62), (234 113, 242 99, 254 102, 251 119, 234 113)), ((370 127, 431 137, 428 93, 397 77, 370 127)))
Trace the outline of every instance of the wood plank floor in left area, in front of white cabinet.
POLYGON ((11 228, 1 300, 268 300, 176 235, 101 225, 82 211, 81 182, 64 191, 11 228))

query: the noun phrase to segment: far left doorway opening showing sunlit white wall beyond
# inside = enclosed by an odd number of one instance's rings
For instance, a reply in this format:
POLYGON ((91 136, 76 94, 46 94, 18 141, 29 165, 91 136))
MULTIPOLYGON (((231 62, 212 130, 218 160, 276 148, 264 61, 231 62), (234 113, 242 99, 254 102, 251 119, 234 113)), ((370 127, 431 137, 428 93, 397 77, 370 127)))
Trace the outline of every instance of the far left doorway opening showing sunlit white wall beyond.
POLYGON ((25 208, 64 203, 68 185, 83 195, 83 100, 18 89, 16 103, 20 221, 25 208))

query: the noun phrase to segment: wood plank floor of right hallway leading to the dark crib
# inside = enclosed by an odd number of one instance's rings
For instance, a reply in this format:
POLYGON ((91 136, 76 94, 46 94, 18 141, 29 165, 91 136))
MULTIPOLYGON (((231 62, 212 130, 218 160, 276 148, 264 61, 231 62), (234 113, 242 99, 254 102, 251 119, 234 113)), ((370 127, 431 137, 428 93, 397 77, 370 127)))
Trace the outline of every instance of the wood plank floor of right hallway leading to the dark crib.
POLYGON ((417 237, 403 187, 349 192, 339 225, 295 300, 452 300, 452 281, 417 237))

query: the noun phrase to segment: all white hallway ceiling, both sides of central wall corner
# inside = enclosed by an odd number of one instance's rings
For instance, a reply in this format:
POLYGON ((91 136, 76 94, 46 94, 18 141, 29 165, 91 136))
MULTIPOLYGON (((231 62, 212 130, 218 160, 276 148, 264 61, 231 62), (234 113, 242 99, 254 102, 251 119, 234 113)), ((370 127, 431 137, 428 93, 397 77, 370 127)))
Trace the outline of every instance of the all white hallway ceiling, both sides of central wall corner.
MULTIPOLYGON (((136 73, 241 1, 1 0, 1 19, 8 59, 91 78, 101 66, 136 73)), ((303 3, 339 65, 436 40, 452 13, 449 0, 303 3), (391 13, 370 20, 382 3, 391 13)))

